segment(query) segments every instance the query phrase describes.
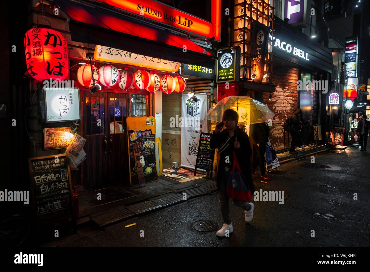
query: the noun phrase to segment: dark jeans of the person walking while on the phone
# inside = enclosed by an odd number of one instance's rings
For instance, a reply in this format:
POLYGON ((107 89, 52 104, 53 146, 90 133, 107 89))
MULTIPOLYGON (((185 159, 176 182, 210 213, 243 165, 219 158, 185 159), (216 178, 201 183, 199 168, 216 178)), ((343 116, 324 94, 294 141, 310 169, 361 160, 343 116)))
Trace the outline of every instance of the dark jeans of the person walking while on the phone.
MULTIPOLYGON (((226 193, 226 187, 227 187, 227 180, 225 179, 225 176, 223 176, 222 180, 219 180, 218 182, 218 201, 220 203, 223 222, 225 224, 230 225, 231 218, 230 218, 230 208, 229 208, 229 197, 226 193)), ((247 211, 249 211, 252 208, 252 206, 248 202, 243 202, 243 201, 239 201, 235 199, 233 199, 233 202, 235 206, 241 207, 247 211)))

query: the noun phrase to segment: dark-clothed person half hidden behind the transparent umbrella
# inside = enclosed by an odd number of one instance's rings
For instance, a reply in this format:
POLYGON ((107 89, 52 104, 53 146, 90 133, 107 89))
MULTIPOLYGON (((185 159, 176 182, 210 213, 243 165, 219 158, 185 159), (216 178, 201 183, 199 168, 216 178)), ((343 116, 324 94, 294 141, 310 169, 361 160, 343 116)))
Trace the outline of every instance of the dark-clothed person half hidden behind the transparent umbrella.
POLYGON ((269 142, 269 127, 266 123, 250 125, 250 141, 253 144, 252 173, 258 175, 255 169, 259 165, 260 177, 263 180, 271 180, 269 177, 266 177, 265 170, 266 143, 269 142))

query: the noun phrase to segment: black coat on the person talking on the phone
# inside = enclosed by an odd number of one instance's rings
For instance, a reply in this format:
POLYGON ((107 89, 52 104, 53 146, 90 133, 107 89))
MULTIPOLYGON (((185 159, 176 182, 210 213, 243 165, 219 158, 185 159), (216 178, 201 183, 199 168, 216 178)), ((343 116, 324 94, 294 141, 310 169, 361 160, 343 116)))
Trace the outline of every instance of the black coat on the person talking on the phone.
MULTIPOLYGON (((224 129, 217 134, 213 132, 211 138, 211 148, 216 149, 222 147, 223 143, 225 143, 228 140, 228 136, 229 131, 227 129, 224 129)), ((230 170, 232 170, 233 151, 235 151, 240 169, 242 170, 242 173, 246 181, 248 182, 248 184, 246 185, 249 186, 250 192, 253 195, 254 185, 252 180, 252 170, 250 163, 252 148, 250 147, 249 137, 242 129, 237 127, 236 133, 234 133, 233 137, 229 140, 228 143, 230 143, 228 148, 223 148, 220 154, 220 160, 217 169, 217 185, 218 187, 220 187, 220 181, 225 179, 225 166, 229 166, 230 170), (235 136, 237 136, 238 142, 240 143, 239 149, 234 148, 235 136), (229 156, 230 159, 229 164, 226 164, 226 156, 229 156)))

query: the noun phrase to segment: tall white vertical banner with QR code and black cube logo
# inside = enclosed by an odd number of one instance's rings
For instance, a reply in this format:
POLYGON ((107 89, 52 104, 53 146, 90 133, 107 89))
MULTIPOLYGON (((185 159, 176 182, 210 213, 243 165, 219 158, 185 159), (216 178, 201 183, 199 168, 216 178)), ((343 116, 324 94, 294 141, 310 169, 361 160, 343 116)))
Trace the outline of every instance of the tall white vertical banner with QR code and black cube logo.
POLYGON ((182 95, 181 166, 195 168, 200 133, 208 132, 208 123, 204 119, 206 113, 206 93, 195 93, 191 98, 182 95))

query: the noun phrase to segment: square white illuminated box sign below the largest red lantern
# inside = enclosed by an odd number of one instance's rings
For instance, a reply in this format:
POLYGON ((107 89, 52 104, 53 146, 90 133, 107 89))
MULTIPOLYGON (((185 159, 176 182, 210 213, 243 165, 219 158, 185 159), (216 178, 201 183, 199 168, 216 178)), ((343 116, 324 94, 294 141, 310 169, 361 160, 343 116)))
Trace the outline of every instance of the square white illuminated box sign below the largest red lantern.
POLYGON ((78 88, 45 88, 46 122, 80 120, 78 88))

